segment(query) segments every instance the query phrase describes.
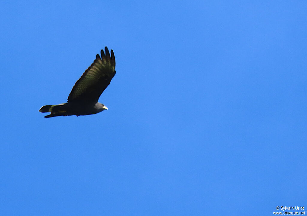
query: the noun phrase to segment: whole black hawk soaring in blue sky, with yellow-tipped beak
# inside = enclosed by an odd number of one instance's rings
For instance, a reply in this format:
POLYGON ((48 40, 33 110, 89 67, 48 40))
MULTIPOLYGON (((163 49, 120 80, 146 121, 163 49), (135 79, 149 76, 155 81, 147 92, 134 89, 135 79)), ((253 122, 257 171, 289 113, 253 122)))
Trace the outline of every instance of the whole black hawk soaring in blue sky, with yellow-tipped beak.
POLYGON ((96 55, 94 63, 83 73, 70 92, 67 103, 42 106, 41 113, 48 113, 45 118, 70 115, 91 115, 108 108, 98 99, 110 84, 115 75, 115 57, 113 50, 111 56, 107 47, 96 55))

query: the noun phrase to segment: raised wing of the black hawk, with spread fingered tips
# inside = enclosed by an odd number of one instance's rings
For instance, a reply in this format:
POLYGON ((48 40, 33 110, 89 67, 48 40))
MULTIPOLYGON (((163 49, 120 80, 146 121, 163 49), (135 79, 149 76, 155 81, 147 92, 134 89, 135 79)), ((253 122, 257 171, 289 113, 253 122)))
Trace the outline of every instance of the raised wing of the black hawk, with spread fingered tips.
POLYGON ((115 57, 107 47, 106 54, 101 50, 101 58, 96 55, 94 63, 83 73, 68 96, 68 102, 98 102, 101 93, 110 84, 115 75, 115 57))

